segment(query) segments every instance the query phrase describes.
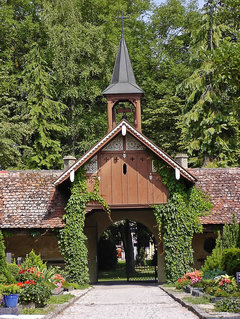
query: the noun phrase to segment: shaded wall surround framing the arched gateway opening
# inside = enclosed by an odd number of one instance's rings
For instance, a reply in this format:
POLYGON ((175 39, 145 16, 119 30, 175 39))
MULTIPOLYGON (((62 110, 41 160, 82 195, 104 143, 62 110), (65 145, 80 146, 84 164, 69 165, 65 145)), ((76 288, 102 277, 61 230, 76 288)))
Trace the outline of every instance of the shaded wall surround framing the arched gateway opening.
POLYGON ((97 244, 101 234, 113 223, 126 219, 141 223, 152 232, 158 251, 158 282, 165 282, 164 255, 159 242, 157 222, 152 209, 112 210, 110 217, 104 211, 95 211, 86 215, 85 234, 87 236, 90 282, 97 282, 97 244))

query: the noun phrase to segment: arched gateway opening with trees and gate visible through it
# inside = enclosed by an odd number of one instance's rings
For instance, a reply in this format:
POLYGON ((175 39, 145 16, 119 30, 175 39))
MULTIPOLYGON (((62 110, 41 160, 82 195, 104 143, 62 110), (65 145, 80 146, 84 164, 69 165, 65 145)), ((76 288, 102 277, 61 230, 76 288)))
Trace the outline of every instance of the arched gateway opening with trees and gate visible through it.
POLYGON ((98 281, 156 281, 157 242, 142 223, 121 220, 98 242, 98 281))

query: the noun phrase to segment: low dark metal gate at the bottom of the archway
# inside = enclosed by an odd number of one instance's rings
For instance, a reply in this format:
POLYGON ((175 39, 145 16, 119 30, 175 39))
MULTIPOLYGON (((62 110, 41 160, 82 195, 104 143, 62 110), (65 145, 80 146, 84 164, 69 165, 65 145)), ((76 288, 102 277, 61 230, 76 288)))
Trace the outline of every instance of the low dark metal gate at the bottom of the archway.
POLYGON ((157 282, 158 267, 157 266, 137 266, 134 271, 127 271, 127 281, 151 281, 157 282))

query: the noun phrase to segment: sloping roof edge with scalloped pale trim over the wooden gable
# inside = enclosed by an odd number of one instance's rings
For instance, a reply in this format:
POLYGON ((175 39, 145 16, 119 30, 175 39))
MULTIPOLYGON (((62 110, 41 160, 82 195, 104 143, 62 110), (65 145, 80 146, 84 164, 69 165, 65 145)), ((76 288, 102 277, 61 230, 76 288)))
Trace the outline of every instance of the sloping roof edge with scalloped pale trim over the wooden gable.
POLYGON ((122 127, 126 127, 126 131, 134 136, 139 142, 144 144, 148 149, 155 153, 159 158, 168 163, 173 169, 179 169, 180 174, 192 183, 195 183, 197 179, 190 174, 185 168, 179 165, 171 156, 162 151, 153 142, 151 142, 146 136, 138 132, 128 121, 122 120, 112 131, 105 135, 97 144, 95 144, 87 153, 85 153, 76 163, 74 163, 69 169, 67 169, 58 179, 54 185, 57 186, 63 181, 69 178, 72 171, 77 171, 79 167, 90 160, 97 152, 99 152, 106 144, 108 144, 114 137, 119 134, 122 127))

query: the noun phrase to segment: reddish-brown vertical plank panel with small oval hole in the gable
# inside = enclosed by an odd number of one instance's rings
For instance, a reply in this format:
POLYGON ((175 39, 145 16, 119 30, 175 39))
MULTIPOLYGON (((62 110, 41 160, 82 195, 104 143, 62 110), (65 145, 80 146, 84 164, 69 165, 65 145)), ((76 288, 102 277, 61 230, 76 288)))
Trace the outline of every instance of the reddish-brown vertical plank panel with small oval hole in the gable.
POLYGON ((101 196, 110 205, 166 203, 168 192, 160 176, 152 171, 152 159, 145 151, 101 152, 99 154, 101 196))

